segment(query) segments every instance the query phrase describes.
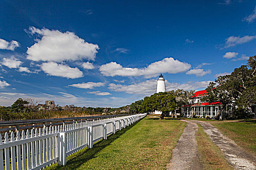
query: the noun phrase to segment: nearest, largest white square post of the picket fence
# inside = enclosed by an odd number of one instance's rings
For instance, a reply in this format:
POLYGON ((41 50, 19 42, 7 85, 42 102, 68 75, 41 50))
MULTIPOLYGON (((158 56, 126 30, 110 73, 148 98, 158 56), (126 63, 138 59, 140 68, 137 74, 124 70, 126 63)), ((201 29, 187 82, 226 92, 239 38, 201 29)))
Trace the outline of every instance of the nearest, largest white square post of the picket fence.
POLYGON ((58 163, 59 165, 66 165, 67 163, 67 138, 65 132, 58 133, 58 163))

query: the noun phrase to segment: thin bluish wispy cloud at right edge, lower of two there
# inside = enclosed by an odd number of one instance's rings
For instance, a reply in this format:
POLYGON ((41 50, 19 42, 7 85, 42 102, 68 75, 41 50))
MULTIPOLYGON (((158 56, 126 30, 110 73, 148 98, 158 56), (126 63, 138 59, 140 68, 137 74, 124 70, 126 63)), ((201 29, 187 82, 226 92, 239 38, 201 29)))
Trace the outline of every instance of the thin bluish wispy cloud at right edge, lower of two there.
POLYGON ((245 35, 243 37, 232 35, 232 36, 226 38, 224 49, 229 48, 229 47, 234 47, 239 44, 244 44, 244 43, 250 42, 254 39, 256 39, 256 35, 245 35))

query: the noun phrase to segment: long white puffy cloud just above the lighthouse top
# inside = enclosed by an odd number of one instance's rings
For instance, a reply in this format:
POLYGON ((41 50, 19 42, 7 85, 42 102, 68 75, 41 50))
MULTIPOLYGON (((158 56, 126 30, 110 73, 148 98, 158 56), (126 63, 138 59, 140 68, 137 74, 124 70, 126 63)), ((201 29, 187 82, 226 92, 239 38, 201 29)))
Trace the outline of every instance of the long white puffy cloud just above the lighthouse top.
POLYGON ((187 71, 191 68, 188 63, 180 62, 174 60, 174 58, 164 58, 161 61, 150 64, 145 68, 123 68, 120 64, 116 62, 107 63, 99 67, 101 74, 105 76, 145 76, 154 77, 159 73, 180 73, 187 71))

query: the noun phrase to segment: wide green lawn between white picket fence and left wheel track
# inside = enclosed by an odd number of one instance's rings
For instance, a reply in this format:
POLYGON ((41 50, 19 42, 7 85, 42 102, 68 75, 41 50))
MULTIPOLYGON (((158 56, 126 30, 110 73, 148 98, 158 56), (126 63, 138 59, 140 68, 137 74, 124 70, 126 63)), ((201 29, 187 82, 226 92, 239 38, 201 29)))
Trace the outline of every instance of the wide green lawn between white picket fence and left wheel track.
POLYGON ((185 124, 148 116, 48 170, 164 170, 185 124))

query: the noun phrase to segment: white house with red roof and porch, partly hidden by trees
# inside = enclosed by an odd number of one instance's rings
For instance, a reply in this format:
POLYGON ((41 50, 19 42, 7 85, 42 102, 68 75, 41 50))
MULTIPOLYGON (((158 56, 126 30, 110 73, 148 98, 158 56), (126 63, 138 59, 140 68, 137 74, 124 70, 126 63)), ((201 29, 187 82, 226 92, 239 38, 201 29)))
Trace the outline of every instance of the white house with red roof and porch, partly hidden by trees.
MULTIPOLYGON (((194 93, 192 96, 192 108, 194 109, 194 114, 200 118, 205 116, 209 116, 210 118, 216 117, 218 113, 218 109, 221 105, 221 102, 201 102, 200 99, 207 95, 206 90, 200 90, 194 93)), ((182 106, 181 112, 184 117, 191 117, 191 109, 188 105, 182 106)), ((220 119, 222 119, 226 115, 226 111, 223 111, 220 115, 220 119)))

